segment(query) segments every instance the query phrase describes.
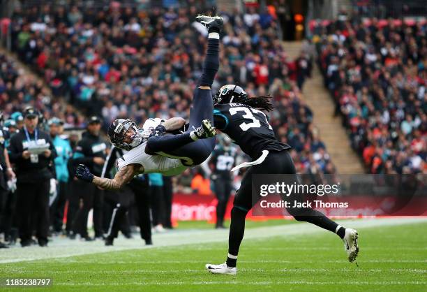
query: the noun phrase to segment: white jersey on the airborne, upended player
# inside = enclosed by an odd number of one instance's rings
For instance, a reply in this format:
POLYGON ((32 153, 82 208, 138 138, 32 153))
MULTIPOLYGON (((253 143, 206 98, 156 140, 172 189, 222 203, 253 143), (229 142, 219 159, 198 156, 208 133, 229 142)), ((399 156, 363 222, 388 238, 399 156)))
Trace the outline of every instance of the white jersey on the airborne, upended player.
POLYGON ((172 159, 161 155, 149 155, 145 153, 147 142, 131 149, 123 157, 117 160, 117 169, 129 164, 140 164, 144 168, 143 173, 161 173, 162 175, 179 175, 188 166, 184 166, 179 159, 172 159))

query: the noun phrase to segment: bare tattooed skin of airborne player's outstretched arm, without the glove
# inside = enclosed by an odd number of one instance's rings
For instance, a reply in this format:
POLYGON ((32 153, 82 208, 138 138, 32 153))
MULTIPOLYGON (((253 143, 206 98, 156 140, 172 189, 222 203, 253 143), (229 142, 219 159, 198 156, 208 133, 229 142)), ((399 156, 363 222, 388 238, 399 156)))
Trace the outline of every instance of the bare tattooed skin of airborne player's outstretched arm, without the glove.
POLYGON ((140 164, 129 164, 120 168, 113 179, 93 176, 92 183, 102 189, 121 189, 130 182, 135 175, 141 172, 140 164))

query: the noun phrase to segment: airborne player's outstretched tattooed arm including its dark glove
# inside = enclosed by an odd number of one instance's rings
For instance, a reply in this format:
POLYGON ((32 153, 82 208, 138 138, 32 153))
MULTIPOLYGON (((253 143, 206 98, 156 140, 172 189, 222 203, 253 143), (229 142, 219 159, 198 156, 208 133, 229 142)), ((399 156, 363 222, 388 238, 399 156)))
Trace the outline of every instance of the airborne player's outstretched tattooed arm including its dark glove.
POLYGON ((75 171, 75 176, 85 182, 91 182, 102 189, 121 189, 125 184, 130 182, 137 173, 140 172, 139 164, 128 164, 120 168, 119 172, 114 175, 113 179, 105 177, 97 177, 93 175, 87 166, 80 164, 75 171))

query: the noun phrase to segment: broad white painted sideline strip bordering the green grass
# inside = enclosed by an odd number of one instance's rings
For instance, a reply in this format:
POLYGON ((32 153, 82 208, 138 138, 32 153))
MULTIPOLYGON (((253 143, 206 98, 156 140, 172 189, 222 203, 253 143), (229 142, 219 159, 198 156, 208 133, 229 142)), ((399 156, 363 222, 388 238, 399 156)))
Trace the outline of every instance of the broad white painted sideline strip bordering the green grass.
MULTIPOLYGON (((339 224, 352 228, 375 228, 380 226, 394 226, 402 224, 414 224, 427 222, 426 218, 384 218, 384 219, 357 219, 341 220, 339 224)), ((270 238, 289 235, 309 235, 324 233, 322 228, 312 224, 285 224, 260 228, 248 228, 245 231, 245 239, 270 238)), ((170 231, 153 235, 155 245, 145 246, 140 238, 126 240, 118 238, 113 247, 105 247, 104 242, 82 242, 80 240, 68 240, 57 238, 49 242, 49 247, 17 247, 0 249, 0 263, 15 263, 20 261, 35 261, 47 258, 66 258, 84 254, 97 254, 110 251, 122 251, 128 249, 149 249, 156 247, 171 247, 183 244, 200 244, 207 242, 226 242, 228 230, 185 230, 170 231)))

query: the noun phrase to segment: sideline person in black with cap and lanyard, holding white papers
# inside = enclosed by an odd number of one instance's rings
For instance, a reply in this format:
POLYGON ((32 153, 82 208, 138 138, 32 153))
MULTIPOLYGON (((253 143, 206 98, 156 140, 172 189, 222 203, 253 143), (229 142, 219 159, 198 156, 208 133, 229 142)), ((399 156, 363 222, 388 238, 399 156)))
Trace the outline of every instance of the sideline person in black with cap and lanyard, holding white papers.
POLYGON ((10 139, 10 161, 17 175, 17 214, 22 247, 31 244, 33 222, 40 247, 47 246, 49 191, 56 152, 49 134, 37 128, 38 112, 24 110, 24 126, 10 139), (40 152, 41 151, 41 152, 40 152), (40 152, 40 153, 39 153, 40 152))

